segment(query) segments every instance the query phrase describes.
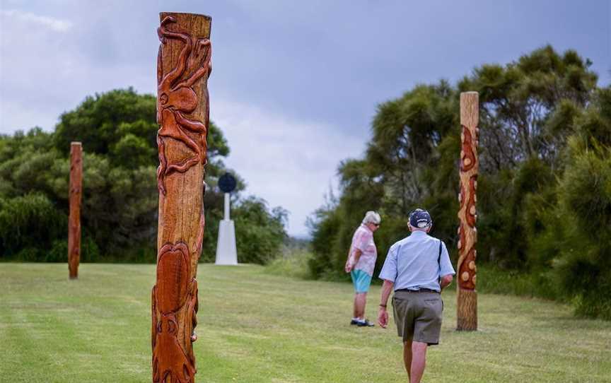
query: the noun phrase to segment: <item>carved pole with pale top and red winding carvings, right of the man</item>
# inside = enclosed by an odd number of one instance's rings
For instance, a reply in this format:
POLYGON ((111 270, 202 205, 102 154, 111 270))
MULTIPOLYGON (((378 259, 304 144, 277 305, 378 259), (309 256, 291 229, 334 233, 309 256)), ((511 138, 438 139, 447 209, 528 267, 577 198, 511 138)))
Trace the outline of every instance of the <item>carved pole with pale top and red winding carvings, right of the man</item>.
POLYGON ((477 243, 477 146, 479 143, 479 95, 477 92, 460 93, 460 209, 458 218, 458 294, 457 294, 457 329, 477 330, 477 292, 475 280, 475 244, 477 243))

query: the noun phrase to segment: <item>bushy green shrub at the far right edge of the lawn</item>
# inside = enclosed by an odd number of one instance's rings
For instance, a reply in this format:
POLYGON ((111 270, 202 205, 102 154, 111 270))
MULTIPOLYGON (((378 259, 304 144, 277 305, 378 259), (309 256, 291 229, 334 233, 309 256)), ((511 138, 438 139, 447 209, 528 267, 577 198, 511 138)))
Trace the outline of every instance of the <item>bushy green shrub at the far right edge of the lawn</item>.
POLYGON ((559 202, 566 217, 556 267, 561 287, 578 313, 611 319, 611 148, 576 155, 559 184, 559 202))

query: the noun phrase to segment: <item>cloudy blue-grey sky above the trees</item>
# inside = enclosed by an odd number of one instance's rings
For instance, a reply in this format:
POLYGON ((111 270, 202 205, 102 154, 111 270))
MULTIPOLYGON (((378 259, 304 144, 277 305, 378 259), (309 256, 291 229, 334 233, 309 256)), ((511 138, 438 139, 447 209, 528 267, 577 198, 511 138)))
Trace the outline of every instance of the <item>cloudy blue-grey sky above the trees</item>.
POLYGON ((552 44, 610 83, 609 0, 0 0, 0 133, 42 126, 86 95, 156 92, 158 12, 212 16, 211 118, 247 193, 289 232, 361 155, 378 103, 552 44))

